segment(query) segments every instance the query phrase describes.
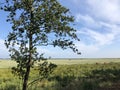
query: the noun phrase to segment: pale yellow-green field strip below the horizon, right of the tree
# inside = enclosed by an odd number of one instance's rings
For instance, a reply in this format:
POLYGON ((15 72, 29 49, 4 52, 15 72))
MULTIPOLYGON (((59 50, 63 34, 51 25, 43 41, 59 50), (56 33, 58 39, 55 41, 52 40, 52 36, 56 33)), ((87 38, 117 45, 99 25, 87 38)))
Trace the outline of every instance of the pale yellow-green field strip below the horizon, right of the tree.
POLYGON ((93 59, 65 59, 65 60, 49 60, 52 63, 57 65, 72 65, 72 64, 96 64, 96 63, 112 63, 112 62, 120 62, 119 58, 93 58, 93 59))

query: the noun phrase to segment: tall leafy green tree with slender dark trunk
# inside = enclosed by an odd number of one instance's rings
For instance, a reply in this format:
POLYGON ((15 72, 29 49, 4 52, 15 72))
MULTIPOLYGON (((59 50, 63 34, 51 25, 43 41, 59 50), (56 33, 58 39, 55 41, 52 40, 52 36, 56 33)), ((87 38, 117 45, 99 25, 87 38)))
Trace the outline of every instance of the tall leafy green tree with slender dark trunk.
POLYGON ((79 41, 71 24, 74 17, 57 0, 6 0, 3 10, 9 12, 7 22, 12 24, 5 44, 11 59, 18 63, 13 71, 23 78, 22 90, 27 90, 35 61, 44 59, 38 46, 71 48, 80 54, 73 43, 79 41))

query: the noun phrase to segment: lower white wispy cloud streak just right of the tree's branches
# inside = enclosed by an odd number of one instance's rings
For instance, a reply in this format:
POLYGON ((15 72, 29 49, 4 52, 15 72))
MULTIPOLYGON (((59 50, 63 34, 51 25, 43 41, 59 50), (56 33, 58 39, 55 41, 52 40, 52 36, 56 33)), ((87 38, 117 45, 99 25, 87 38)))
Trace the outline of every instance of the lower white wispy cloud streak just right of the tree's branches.
POLYGON ((116 39, 116 33, 110 32, 104 34, 88 28, 82 28, 78 33, 92 38, 91 42, 92 40, 95 41, 94 44, 98 46, 109 45, 116 39))

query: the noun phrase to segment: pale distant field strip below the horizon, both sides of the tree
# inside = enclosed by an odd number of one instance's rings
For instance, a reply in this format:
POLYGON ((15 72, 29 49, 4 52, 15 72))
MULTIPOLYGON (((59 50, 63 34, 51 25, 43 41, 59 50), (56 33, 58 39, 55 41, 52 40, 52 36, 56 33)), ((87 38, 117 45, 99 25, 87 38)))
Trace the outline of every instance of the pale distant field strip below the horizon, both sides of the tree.
MULTIPOLYGON (((104 63, 120 63, 119 58, 93 58, 93 59, 51 59, 48 60, 57 65, 73 65, 73 64, 104 64, 104 63)), ((11 68, 16 66, 16 62, 12 60, 0 60, 0 68, 11 68)))

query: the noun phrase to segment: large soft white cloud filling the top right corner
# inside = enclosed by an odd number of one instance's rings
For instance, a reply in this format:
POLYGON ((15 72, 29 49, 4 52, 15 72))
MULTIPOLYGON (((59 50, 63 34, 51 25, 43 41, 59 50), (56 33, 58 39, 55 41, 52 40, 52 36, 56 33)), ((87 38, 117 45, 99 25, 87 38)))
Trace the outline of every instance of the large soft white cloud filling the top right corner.
POLYGON ((110 23, 120 24, 120 1, 119 0, 87 0, 90 13, 110 23))

